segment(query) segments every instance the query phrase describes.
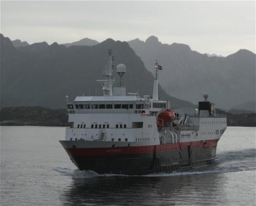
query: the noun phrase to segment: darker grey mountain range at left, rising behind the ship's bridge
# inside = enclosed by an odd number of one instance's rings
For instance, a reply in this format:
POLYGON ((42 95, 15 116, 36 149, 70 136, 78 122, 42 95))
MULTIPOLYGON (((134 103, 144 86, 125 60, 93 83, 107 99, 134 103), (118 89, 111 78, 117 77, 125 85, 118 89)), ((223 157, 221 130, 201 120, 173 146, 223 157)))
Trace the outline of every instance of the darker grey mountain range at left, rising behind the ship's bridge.
MULTIPOLYGON (((65 46, 56 42, 34 43, 14 47, 9 38, 0 35, 1 107, 66 107, 66 95, 102 95, 102 69, 107 64, 108 49, 113 49, 115 65, 123 63, 127 72, 123 84, 127 92, 152 95, 154 76, 127 42, 106 39, 94 46, 65 46)), ((115 74, 116 75, 116 74, 115 74)), ((116 81, 118 84, 118 81, 116 81)), ((173 107, 194 107, 188 101, 174 98, 159 87, 159 97, 173 107)))

